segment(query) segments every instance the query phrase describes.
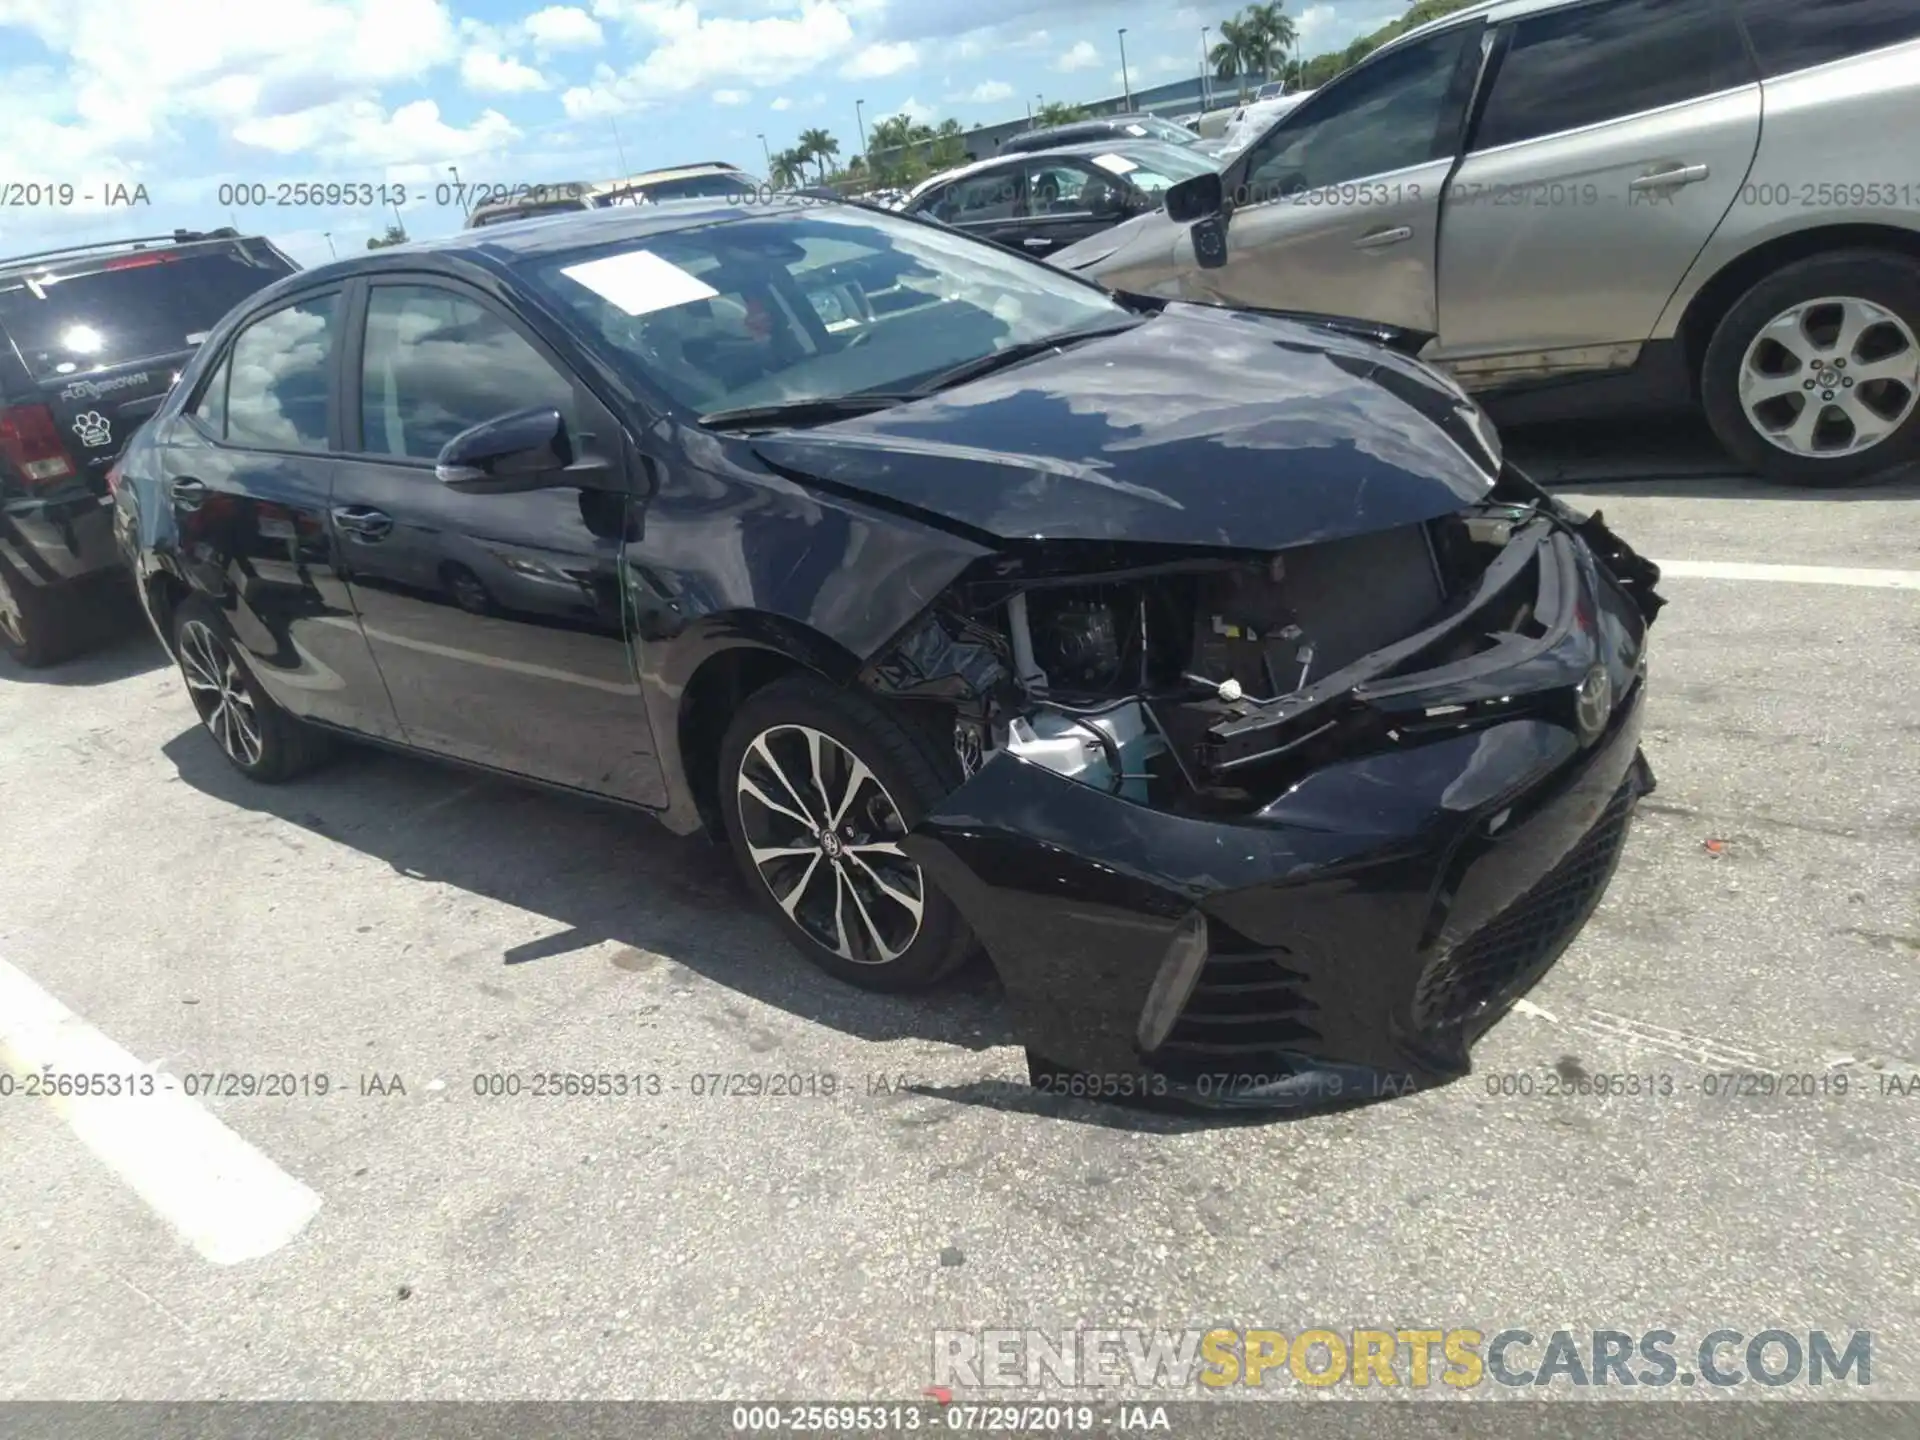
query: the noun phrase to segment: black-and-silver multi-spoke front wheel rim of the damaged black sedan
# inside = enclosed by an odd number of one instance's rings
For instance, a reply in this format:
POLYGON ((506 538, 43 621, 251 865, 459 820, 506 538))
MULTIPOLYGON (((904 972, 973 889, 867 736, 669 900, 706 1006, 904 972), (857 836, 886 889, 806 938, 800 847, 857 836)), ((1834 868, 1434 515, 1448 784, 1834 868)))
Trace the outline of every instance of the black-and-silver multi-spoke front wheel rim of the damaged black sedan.
POLYGON ((735 780, 741 835, 774 902, 841 960, 883 966, 920 935, 925 877, 900 808, 858 755, 808 726, 755 735, 735 780))

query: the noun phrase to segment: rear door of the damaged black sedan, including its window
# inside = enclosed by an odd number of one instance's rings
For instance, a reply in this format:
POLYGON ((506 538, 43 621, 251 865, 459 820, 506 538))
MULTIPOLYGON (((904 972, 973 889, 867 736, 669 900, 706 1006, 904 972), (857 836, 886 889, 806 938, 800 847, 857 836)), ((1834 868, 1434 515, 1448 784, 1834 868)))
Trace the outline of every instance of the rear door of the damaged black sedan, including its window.
POLYGON ((238 330, 156 436, 173 549, 298 716, 399 739, 326 522, 344 292, 301 294, 238 330))

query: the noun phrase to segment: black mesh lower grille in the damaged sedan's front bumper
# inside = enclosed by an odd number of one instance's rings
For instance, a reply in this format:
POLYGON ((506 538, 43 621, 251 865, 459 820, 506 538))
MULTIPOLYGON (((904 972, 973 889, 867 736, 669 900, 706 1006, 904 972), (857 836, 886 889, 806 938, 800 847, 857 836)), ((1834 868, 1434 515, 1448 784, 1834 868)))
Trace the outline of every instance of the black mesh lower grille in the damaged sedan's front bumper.
POLYGON ((1634 781, 1607 801, 1594 828, 1530 891, 1434 960, 1413 993, 1423 1029, 1463 1025, 1534 977, 1599 904, 1626 843, 1634 781))

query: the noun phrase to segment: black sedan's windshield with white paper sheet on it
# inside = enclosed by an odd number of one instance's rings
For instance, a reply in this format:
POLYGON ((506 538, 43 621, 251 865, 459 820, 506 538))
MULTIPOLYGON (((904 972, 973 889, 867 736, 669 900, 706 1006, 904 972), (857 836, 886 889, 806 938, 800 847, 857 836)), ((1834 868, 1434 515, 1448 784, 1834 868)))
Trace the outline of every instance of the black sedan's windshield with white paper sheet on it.
POLYGON ((1131 315, 1044 265, 864 207, 720 221, 528 269, 616 363, 703 415, 902 392, 1131 315))

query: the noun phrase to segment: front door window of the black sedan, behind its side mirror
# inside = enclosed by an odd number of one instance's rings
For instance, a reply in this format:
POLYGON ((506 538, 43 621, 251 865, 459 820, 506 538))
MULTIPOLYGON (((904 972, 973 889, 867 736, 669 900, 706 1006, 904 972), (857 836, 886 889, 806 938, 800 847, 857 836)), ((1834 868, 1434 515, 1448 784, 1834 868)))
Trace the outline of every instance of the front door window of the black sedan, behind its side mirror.
POLYGON ((361 363, 361 449, 430 461, 461 430, 553 405, 574 388, 490 309, 436 286, 374 286, 361 363))

